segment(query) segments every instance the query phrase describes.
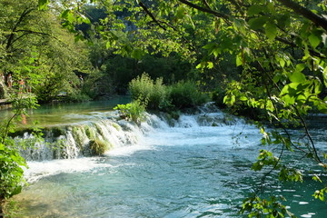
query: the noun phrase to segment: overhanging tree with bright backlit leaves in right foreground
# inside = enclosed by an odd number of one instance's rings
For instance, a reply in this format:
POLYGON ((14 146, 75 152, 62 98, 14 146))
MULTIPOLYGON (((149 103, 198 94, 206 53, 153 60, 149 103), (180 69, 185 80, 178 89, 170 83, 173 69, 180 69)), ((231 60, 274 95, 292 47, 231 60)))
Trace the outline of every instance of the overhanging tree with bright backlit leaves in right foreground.
MULTIPOLYGON (((45 2, 45 1, 40 1, 45 2)), ((87 2, 87 1, 83 1, 87 2)), ((199 69, 214 69, 226 54, 240 74, 227 81, 224 103, 259 109, 267 121, 282 128, 263 133, 263 144, 279 148, 275 157, 262 150, 256 171, 276 172, 283 181, 301 181, 302 173, 283 163, 285 150, 302 153, 326 168, 326 155, 318 152, 304 117, 312 110, 327 113, 327 11, 325 1, 302 0, 172 0, 105 1, 94 0, 107 10, 107 23, 98 28, 107 46, 120 54, 138 58, 142 54, 178 53, 196 63, 199 69), (114 11, 129 12, 124 19, 114 11), (129 28, 128 22, 136 28, 129 28), (122 41, 116 30, 129 33, 122 41), (119 43, 118 43, 119 42, 119 43), (201 55, 198 55, 201 54, 201 55), (198 58, 201 58, 199 60, 198 58), (303 129, 304 144, 297 144, 287 127, 303 129)), ((79 2, 80 4, 81 2, 79 2)), ((80 17, 77 7, 64 17, 70 25, 80 17)), ((322 178, 313 176, 321 181, 322 178)), ((323 200, 327 187, 314 193, 323 200)), ((243 204, 243 213, 260 217, 282 217, 288 213, 275 196, 262 199, 255 193, 243 204)))

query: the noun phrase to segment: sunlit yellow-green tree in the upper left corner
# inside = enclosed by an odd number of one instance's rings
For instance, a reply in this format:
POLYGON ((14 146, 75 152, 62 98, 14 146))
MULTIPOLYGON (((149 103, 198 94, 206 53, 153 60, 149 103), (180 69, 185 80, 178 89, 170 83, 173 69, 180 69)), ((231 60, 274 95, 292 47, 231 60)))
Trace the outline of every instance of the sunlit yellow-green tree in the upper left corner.
POLYGON ((90 69, 84 43, 74 43, 55 11, 38 10, 36 0, 1 0, 0 7, 0 71, 13 74, 15 83, 23 78, 40 102, 75 93, 74 71, 90 69))

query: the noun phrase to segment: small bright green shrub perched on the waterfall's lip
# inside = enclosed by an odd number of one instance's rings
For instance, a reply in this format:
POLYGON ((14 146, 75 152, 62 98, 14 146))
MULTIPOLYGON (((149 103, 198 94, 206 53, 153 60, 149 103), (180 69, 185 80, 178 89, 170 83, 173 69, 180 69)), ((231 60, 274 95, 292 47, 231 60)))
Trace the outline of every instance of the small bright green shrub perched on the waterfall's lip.
POLYGON ((129 104, 118 104, 114 107, 114 110, 119 110, 120 116, 123 119, 140 124, 145 119, 146 103, 146 99, 144 103, 141 103, 141 100, 137 99, 129 104))

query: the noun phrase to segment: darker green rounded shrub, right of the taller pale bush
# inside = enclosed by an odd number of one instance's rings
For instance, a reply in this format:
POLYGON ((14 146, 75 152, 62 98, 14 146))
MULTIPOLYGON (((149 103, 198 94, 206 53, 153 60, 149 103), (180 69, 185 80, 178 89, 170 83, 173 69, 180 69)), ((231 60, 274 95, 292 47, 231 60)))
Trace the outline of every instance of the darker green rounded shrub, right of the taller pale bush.
POLYGON ((179 109, 202 105, 210 100, 209 96, 201 93, 192 81, 173 84, 170 97, 172 104, 179 109))

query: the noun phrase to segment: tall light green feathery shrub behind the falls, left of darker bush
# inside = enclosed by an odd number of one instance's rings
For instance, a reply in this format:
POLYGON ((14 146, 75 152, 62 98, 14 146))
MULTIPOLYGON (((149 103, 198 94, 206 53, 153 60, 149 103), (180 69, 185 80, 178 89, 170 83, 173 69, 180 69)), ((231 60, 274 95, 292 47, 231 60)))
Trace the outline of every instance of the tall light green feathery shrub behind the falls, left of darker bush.
POLYGON ((163 109, 169 102, 169 88, 163 84, 163 78, 157 78, 155 81, 149 74, 142 74, 129 84, 132 99, 147 102, 148 109, 163 109))

